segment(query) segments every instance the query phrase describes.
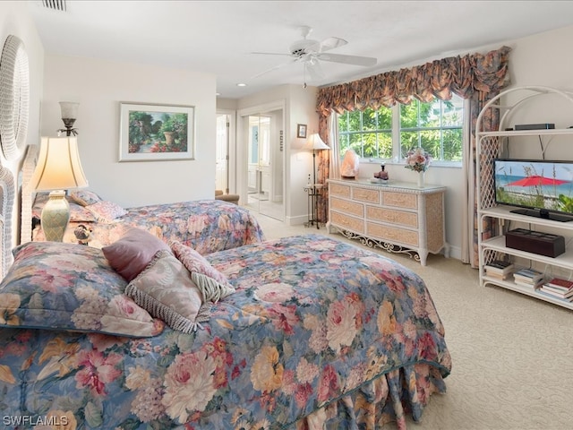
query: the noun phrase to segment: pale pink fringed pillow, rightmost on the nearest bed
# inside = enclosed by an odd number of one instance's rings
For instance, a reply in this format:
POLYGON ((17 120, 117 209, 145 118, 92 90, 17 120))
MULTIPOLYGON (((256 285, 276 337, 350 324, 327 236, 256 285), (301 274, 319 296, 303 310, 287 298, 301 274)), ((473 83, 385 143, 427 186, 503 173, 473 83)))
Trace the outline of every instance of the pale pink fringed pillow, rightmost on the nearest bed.
POLYGON ((200 287, 209 285, 212 293, 206 295, 206 300, 216 303, 220 298, 235 292, 235 288, 229 283, 225 275, 211 266, 210 262, 205 260, 205 257, 197 251, 176 240, 169 242, 169 246, 177 260, 182 262, 185 268, 191 272, 192 280, 195 283, 200 287))

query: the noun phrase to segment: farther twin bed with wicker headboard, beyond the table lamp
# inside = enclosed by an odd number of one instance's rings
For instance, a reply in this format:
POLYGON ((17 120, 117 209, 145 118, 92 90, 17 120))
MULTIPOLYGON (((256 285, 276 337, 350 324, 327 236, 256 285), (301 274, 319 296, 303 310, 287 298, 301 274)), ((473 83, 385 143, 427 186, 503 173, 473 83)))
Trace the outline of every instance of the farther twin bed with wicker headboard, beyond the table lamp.
MULTIPOLYGON (((28 180, 36 166, 38 150, 30 146, 22 166, 21 242, 44 240, 40 216, 48 193, 33 193, 28 180)), ((69 192, 70 223, 65 243, 78 243, 77 228, 89 231, 85 241, 101 248, 115 242, 126 228, 149 231, 164 241, 179 240, 201 254, 260 242, 259 223, 246 209, 220 200, 175 202, 123 208, 92 190, 69 192)))

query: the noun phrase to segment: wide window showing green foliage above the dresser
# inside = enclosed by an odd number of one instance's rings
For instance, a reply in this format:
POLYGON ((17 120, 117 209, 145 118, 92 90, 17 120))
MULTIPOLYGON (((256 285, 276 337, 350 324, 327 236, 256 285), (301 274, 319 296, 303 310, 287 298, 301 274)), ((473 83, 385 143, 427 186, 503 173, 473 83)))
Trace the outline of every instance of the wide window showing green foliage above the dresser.
POLYGON ((463 106, 454 94, 448 101, 414 99, 409 105, 345 112, 338 116, 340 155, 352 148, 363 159, 404 159, 408 150, 422 147, 434 161, 460 162, 463 106))

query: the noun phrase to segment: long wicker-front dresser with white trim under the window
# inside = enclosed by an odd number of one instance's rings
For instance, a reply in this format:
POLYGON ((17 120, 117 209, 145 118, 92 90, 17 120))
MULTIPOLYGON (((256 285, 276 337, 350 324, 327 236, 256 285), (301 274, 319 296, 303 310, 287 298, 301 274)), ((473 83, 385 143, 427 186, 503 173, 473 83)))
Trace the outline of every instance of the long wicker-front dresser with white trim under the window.
POLYGON ((444 186, 329 179, 327 227, 365 245, 414 254, 425 265, 429 253, 443 249, 448 256, 445 192, 444 186))

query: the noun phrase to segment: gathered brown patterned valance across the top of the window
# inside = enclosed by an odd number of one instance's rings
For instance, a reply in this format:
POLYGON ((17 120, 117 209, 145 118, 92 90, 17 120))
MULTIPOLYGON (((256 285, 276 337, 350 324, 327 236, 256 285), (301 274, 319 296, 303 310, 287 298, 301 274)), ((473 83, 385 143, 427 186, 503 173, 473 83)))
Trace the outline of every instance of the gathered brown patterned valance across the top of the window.
POLYGON ((319 89, 317 111, 328 117, 331 111, 391 107, 413 98, 423 102, 448 100, 456 93, 470 99, 476 92, 498 93, 509 83, 510 47, 487 54, 451 56, 411 69, 369 76, 354 82, 319 89))

